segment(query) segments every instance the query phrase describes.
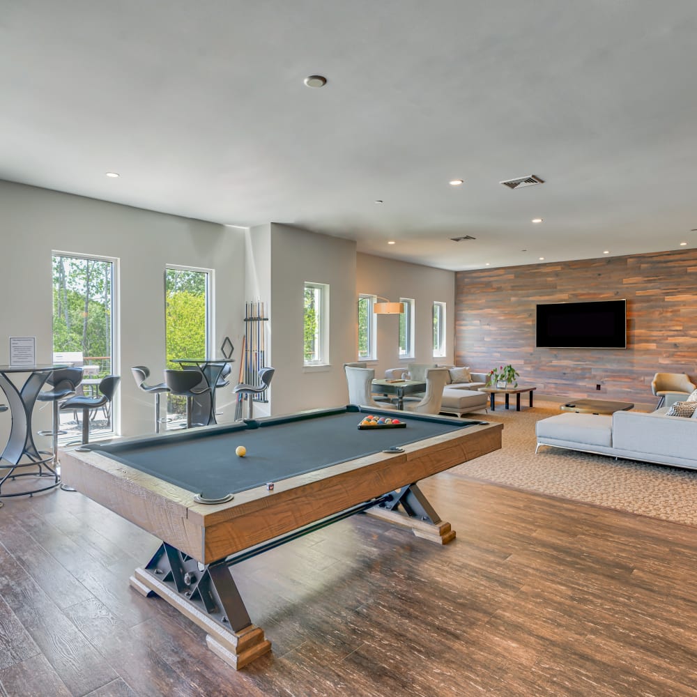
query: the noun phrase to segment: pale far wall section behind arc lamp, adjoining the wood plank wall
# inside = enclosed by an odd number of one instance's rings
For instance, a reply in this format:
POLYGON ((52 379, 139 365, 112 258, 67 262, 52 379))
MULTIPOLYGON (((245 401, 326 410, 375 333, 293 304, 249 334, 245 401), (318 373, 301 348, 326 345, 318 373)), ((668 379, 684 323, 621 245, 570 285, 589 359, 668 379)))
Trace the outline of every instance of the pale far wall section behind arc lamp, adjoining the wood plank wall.
MULTIPOLYGON (((377 358, 369 362, 375 368, 376 377, 383 376, 388 368, 406 367, 408 363, 454 362, 455 335, 455 274, 429 266, 383 259, 381 256, 358 254, 356 256, 355 295, 382 296, 393 302, 399 298, 413 298, 415 358, 399 358, 399 315, 378 315, 377 358), (445 302, 446 355, 433 357, 433 304, 445 302)), ((357 328, 356 328, 357 330, 357 328)), ((357 341, 356 341, 357 345, 357 341)), ((353 358, 357 360, 354 350, 353 358)))

